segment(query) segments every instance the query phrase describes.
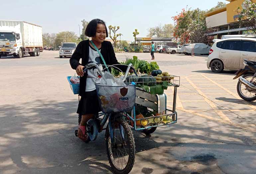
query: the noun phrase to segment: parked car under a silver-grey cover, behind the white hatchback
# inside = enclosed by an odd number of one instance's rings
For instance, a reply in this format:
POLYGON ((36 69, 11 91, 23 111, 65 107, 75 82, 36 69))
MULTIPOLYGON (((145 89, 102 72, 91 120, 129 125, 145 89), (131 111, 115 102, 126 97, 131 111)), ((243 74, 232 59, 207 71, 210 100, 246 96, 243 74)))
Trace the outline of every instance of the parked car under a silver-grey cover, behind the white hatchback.
POLYGON ((185 55, 200 54, 200 55, 209 55, 211 47, 204 43, 193 43, 184 48, 185 55))

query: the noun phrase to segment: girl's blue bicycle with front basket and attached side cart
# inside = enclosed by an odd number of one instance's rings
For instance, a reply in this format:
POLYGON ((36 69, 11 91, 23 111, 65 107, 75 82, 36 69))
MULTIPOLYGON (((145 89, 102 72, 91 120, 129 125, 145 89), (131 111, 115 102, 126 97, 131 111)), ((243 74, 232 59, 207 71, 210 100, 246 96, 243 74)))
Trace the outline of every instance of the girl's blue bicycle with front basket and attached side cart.
MULTIPOLYGON (((92 66, 98 69, 101 77, 104 75, 104 69, 100 70, 99 66, 94 63, 86 65, 84 71, 92 66)), ((127 66, 128 68, 123 78, 124 81, 126 80, 130 68, 133 68, 132 64, 127 66)), ((107 65, 106 68, 109 67, 117 68, 115 65, 107 65)), ((134 68, 133 70, 136 74, 134 68)), ((70 77, 67 78, 69 80, 70 77)), ((179 87, 180 84, 173 83, 172 85, 175 87, 174 104, 173 110, 170 110, 166 107, 167 97, 165 94, 149 95, 149 93, 143 89, 136 88, 136 83, 131 82, 133 79, 136 79, 136 77, 130 78, 126 86, 102 86, 95 82, 102 112, 95 115, 94 119, 90 119, 86 125, 89 135, 87 142, 96 140, 98 133, 106 130, 105 141, 107 156, 111 169, 116 174, 127 174, 133 168, 135 162, 135 140, 132 130, 142 130, 145 134, 151 134, 159 126, 177 123, 177 112, 175 111, 176 93, 177 87, 179 87), (124 91, 123 94, 121 94, 121 89, 124 91), (163 114, 147 118, 136 118, 136 107, 138 106, 146 107, 148 112, 155 110, 163 114), (167 111, 171 111, 172 113, 167 113, 167 111), (144 124, 142 124, 142 122, 144 122, 144 124), (147 124, 145 122, 147 122, 147 124), (104 128, 106 124, 107 126, 104 128)), ((173 79, 173 82, 174 81, 175 79, 173 79)), ((180 83, 180 79, 177 81, 180 83)), ((146 83, 146 80, 144 81, 143 79, 142 83, 146 83)), ((73 90, 72 87, 71 89, 73 90)), ((78 123, 80 123, 80 121, 81 115, 78 116, 78 123)), ((75 136, 77 136, 77 130, 75 131, 75 136)))

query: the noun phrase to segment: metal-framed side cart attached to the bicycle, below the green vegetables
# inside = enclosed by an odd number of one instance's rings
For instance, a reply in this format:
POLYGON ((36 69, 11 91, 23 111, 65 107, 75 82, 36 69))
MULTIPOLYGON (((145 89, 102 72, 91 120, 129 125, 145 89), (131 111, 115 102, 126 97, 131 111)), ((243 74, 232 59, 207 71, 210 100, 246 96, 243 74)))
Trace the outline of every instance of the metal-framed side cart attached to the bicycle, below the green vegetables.
MULTIPOLYGON (((133 81, 134 78, 137 77, 130 78, 130 81, 133 81)), ((142 86, 143 84, 148 83, 146 78, 141 82, 142 86)), ((159 126, 166 126, 177 123, 176 96, 177 88, 180 86, 180 77, 170 75, 166 78, 171 78, 168 80, 168 87, 174 88, 173 108, 167 109, 167 96, 165 93, 151 94, 141 87, 136 87, 136 105, 134 106, 132 112, 127 114, 127 117, 131 120, 131 126, 133 130, 143 130, 146 134, 150 134, 153 133, 159 126), (143 108, 143 115, 145 115, 145 112, 147 112, 146 115, 152 116, 138 118, 138 114, 140 113, 141 108, 143 108), (145 109, 147 109, 147 111, 145 111, 145 109)), ((161 81, 157 81, 155 83, 159 84, 161 81)))

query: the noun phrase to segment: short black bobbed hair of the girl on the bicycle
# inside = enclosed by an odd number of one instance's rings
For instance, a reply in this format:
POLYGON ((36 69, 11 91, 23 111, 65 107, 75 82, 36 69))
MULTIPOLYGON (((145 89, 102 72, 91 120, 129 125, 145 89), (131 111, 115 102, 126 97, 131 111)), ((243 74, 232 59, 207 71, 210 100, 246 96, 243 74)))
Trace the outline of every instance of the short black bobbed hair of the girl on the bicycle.
POLYGON ((100 20, 100 19, 93 19, 93 20, 91 20, 91 21, 88 23, 88 25, 87 25, 87 27, 86 27, 86 29, 85 29, 84 34, 85 34, 86 36, 88 36, 88 37, 95 37, 97 25, 98 25, 99 23, 105 25, 105 28, 106 28, 106 37, 108 37, 107 26, 106 26, 105 22, 102 21, 102 20, 100 20))

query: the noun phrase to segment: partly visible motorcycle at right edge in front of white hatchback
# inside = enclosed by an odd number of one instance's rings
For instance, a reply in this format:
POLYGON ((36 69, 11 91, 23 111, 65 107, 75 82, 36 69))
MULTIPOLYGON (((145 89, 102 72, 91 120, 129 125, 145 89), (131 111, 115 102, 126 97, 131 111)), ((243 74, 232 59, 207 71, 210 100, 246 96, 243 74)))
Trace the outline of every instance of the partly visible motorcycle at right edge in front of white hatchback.
POLYGON ((233 79, 239 77, 236 90, 238 95, 246 101, 256 100, 256 61, 244 59, 245 67, 238 70, 233 79))

